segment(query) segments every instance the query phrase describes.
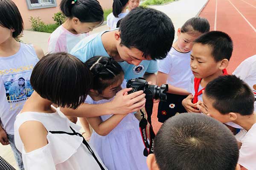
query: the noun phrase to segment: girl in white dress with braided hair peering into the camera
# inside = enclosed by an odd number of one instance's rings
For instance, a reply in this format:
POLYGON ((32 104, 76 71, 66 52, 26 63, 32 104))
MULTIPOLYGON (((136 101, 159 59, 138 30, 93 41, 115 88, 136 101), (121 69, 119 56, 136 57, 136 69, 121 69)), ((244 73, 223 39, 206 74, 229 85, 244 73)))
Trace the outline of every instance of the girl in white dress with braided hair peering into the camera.
MULTIPOLYGON (((85 102, 109 102, 125 88, 122 67, 109 57, 96 56, 85 64, 93 73, 93 88, 85 102)), ((127 95, 127 94, 124 94, 127 95)), ((106 108, 108 109, 108 108, 106 108)), ((139 121, 133 113, 87 118, 94 132, 90 144, 109 170, 148 170, 139 121)))

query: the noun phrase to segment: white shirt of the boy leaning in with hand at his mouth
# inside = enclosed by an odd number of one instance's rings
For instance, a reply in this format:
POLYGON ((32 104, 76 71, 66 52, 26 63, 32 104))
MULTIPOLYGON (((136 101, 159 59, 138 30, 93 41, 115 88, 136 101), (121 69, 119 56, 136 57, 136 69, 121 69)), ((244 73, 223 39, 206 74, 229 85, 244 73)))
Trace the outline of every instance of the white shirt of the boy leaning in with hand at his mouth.
POLYGON ((238 163, 247 170, 256 170, 256 123, 248 131, 242 129, 236 139, 242 143, 238 163))

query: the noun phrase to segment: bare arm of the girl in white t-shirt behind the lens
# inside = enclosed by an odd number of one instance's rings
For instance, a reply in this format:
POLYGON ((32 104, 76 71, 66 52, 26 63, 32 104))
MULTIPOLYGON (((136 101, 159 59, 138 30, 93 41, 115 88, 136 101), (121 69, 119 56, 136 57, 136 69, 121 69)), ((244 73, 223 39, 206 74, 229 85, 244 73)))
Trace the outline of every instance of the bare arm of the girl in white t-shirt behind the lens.
MULTIPOLYGON (((163 73, 161 71, 158 71, 157 72, 157 85, 160 86, 160 85, 166 84, 167 77, 168 77, 168 74, 165 74, 165 73, 163 73)), ((168 91, 167 91, 167 93, 178 94, 178 95, 189 95, 190 94, 185 89, 177 88, 177 87, 175 87, 173 85, 170 85, 170 84, 168 84, 168 91)))

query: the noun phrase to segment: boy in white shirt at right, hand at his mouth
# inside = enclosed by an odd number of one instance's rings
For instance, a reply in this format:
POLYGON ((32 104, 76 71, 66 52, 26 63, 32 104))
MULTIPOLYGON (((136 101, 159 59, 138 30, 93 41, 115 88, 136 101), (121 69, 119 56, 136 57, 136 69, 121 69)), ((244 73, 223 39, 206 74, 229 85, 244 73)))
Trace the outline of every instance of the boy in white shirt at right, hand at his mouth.
POLYGON ((239 145, 238 163, 248 170, 256 170, 256 114, 254 94, 250 87, 234 75, 218 77, 204 90, 198 108, 222 123, 234 122, 243 129, 236 135, 239 145))

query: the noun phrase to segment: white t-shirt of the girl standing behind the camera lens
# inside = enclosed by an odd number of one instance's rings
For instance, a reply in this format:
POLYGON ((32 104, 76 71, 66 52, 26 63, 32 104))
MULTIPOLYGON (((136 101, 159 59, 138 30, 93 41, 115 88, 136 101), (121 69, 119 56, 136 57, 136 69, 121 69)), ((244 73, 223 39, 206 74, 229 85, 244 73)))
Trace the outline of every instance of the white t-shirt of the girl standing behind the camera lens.
POLYGON ((192 77, 190 68, 190 52, 181 53, 171 48, 166 58, 157 60, 158 71, 168 74, 167 83, 186 89, 192 77))

